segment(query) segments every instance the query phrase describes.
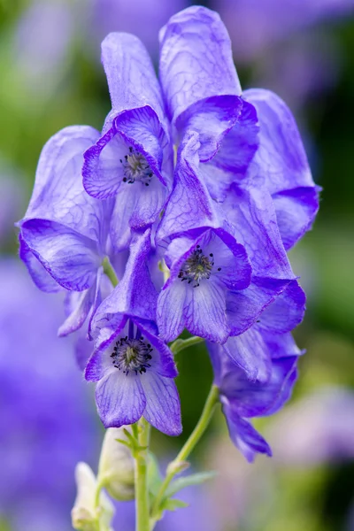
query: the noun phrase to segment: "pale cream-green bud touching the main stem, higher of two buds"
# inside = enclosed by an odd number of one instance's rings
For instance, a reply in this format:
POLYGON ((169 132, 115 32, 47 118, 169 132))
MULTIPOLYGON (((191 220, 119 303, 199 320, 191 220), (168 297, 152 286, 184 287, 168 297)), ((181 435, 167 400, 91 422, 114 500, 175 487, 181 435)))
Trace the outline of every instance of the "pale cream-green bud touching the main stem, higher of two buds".
POLYGON ((98 482, 119 501, 135 497, 134 458, 130 449, 117 441, 127 441, 124 429, 130 431, 130 427, 109 427, 106 430, 98 466, 98 482))

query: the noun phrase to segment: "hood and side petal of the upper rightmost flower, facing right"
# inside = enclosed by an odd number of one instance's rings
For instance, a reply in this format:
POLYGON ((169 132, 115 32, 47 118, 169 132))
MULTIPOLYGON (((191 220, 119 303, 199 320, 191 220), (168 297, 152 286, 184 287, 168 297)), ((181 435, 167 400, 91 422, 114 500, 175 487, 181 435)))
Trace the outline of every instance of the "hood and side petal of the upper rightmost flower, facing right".
POLYGON ((287 105, 269 90, 250 89, 243 96, 256 107, 259 120, 259 148, 249 176, 278 196, 277 219, 288 250, 312 226, 319 207, 318 189, 287 105))

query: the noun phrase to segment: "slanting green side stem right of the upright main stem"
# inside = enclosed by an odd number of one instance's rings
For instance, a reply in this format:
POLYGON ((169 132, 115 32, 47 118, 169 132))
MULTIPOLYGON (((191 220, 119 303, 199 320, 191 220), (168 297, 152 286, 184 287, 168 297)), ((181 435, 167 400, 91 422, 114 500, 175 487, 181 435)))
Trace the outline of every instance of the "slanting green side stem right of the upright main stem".
MULTIPOLYGON (((190 339, 195 339, 195 338, 191 337, 190 339)), ((186 341, 189 341, 189 340, 186 340, 186 341)), ((196 427, 194 428, 192 433, 189 435, 189 439, 186 441, 186 443, 182 447, 178 456, 175 459, 173 459, 173 461, 167 467, 167 473, 165 476, 165 480, 163 481, 160 489, 158 490, 158 495, 156 496, 155 502, 152 507, 152 511, 151 511, 152 526, 154 526, 156 521, 158 521, 158 518, 159 518, 158 514, 160 512, 160 506, 164 500, 165 492, 168 489, 168 486, 170 485, 171 481, 173 481, 174 476, 177 473, 180 473, 181 470, 183 470, 183 465, 185 464, 186 459, 189 458, 189 454, 195 449, 196 444, 199 442, 202 435, 204 434, 204 431, 209 426, 209 423, 212 419, 212 414, 218 402, 219 402, 219 389, 216 385, 212 385, 212 389, 209 391, 209 395, 204 404, 203 412, 200 416, 200 419, 198 420, 196 424, 196 427)))

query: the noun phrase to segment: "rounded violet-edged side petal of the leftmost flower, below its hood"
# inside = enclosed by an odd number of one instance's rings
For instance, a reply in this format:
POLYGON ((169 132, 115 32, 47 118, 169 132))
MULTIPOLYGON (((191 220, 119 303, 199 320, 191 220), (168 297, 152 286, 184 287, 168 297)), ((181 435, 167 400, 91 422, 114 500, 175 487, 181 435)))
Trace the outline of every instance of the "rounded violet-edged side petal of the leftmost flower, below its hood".
POLYGON ((23 222, 21 232, 35 258, 63 288, 83 291, 95 283, 100 266, 96 242, 45 219, 23 222))

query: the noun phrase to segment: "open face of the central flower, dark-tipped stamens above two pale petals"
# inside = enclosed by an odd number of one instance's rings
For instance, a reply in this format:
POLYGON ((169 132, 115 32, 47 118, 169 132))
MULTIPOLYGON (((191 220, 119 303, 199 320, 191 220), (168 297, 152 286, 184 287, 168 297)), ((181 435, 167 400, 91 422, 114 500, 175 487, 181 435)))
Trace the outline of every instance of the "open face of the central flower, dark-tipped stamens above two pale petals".
POLYGON ((201 227, 173 239, 165 253, 170 277, 158 296, 158 328, 171 341, 191 334, 225 342, 227 291, 250 284, 246 252, 223 229, 201 227))

